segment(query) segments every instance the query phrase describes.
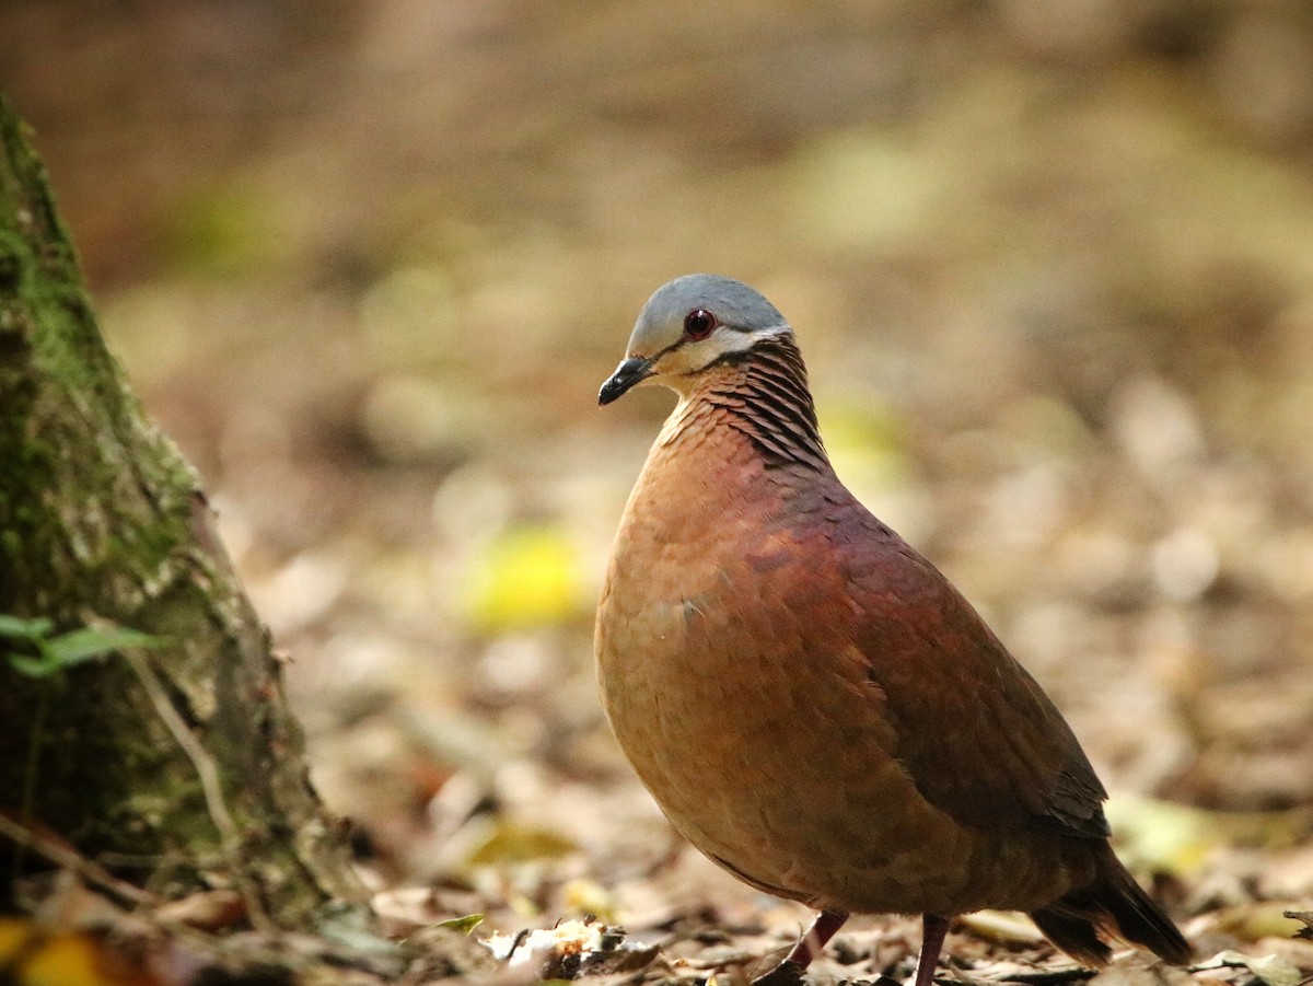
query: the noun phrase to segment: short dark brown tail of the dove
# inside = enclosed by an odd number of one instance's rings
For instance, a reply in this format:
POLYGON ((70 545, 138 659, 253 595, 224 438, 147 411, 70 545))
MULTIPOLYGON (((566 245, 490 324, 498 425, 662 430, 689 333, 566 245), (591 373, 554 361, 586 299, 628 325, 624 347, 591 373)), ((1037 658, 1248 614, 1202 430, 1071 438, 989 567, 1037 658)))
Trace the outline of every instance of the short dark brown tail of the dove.
POLYGON ((1144 945, 1173 965, 1191 958, 1190 943, 1108 849, 1099 874, 1031 914, 1048 939, 1079 962, 1108 964, 1104 935, 1144 945))

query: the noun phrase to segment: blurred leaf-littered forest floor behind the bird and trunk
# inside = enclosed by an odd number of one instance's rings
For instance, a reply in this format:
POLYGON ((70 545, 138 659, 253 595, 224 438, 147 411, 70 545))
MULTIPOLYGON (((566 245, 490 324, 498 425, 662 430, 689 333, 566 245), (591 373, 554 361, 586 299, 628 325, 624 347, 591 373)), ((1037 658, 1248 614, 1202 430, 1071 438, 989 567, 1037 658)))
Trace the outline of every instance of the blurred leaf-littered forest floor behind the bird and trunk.
MULTIPOLYGON (((0 12, 399 933, 593 914, 662 945, 617 978, 688 978, 806 920, 679 844, 592 684, 671 403, 596 387, 709 269, 790 316, 840 475, 1067 713, 1200 957, 1313 969, 1313 21, 1130 7, 0 12)), ((817 972, 906 977, 918 933, 817 972)), ((949 951, 1064 965, 1001 919, 949 951)))

